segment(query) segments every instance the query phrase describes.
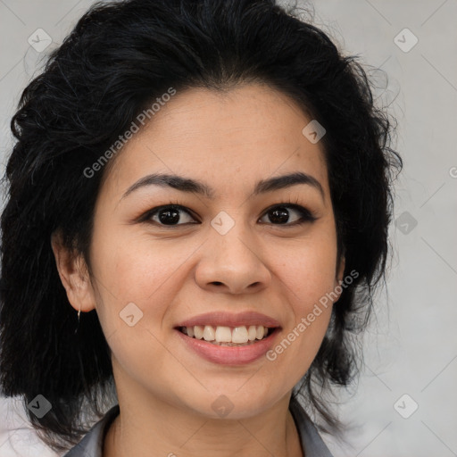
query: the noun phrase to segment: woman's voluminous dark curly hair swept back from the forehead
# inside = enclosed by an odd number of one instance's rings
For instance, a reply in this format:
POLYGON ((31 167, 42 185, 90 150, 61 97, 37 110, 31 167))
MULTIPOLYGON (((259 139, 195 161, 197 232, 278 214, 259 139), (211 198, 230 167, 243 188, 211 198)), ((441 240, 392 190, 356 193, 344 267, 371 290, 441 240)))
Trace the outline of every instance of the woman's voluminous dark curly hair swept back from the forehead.
POLYGON ((346 386, 358 371, 352 336, 366 326, 374 287, 386 271, 392 181, 402 160, 390 146, 393 122, 375 106, 357 58, 340 53, 296 11, 274 0, 98 2, 24 89, 4 176, 0 386, 26 404, 38 394, 49 400, 52 410, 42 419, 28 412, 54 450, 75 445, 87 432, 83 411, 101 417, 112 364, 95 310, 81 315, 75 332, 78 320, 51 235, 62 231, 64 245, 83 253, 90 271, 105 170, 91 179, 84 170, 169 87, 218 91, 266 83, 327 130, 321 141, 338 253, 345 256, 345 274, 359 276, 333 307, 319 353, 294 395, 304 395, 328 428, 337 428, 315 387, 346 386))

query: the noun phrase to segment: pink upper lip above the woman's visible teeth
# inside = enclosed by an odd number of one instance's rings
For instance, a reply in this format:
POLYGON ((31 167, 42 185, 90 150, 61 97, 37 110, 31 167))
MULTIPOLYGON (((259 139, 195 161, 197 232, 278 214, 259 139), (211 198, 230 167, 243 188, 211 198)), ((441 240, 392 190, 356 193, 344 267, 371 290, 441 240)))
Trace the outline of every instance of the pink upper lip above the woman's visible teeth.
POLYGON ((213 327, 242 327, 262 325, 263 327, 280 327, 278 320, 270 318, 260 312, 206 312, 193 318, 183 320, 177 327, 194 327, 195 325, 213 327))

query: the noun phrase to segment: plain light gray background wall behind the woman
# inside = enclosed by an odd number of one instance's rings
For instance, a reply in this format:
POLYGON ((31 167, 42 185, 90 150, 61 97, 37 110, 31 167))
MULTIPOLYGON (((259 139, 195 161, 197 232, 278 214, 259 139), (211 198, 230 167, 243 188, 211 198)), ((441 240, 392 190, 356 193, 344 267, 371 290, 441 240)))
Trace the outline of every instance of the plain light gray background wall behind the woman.
MULTIPOLYGON (((92 3, 0 0, 2 175, 21 90, 92 3), (28 42, 38 28, 53 41, 41 53, 28 42)), ((398 120, 395 147, 404 160, 387 293, 378 295, 363 337, 359 384, 341 393, 346 443, 325 439, 336 457, 451 457, 457 455, 457 1, 327 0, 314 8, 315 23, 345 54, 386 72, 373 73, 375 96, 398 120)), ((39 445, 18 404, 0 398, 2 457, 55 455, 39 445)))

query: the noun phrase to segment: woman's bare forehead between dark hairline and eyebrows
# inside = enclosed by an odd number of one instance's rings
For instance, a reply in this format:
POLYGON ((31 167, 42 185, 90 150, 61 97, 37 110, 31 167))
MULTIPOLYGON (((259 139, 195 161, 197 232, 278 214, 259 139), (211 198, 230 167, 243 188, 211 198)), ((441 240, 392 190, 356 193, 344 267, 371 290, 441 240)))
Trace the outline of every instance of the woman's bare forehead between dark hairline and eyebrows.
POLYGON ((211 183, 217 195, 245 194, 254 181, 300 170, 328 193, 322 147, 302 133, 311 120, 266 85, 178 92, 122 148, 105 190, 121 194, 161 171, 211 183))

